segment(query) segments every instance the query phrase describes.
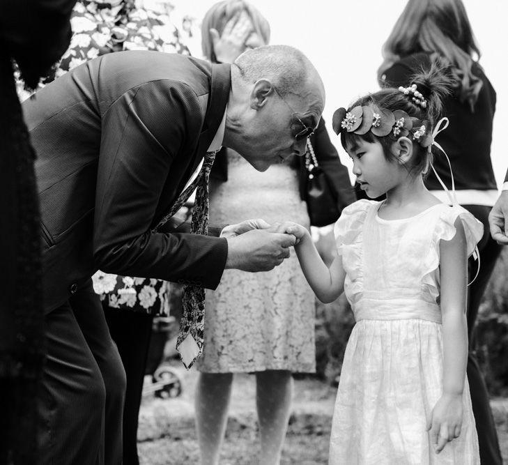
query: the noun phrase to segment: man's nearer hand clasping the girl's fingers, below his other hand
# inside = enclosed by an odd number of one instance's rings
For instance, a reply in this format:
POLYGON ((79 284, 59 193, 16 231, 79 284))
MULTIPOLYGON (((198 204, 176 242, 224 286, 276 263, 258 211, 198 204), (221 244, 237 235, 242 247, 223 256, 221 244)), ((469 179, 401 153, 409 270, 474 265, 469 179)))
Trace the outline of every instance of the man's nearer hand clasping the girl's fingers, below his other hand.
POLYGON ((268 271, 289 257, 289 247, 295 244, 292 234, 253 229, 228 241, 226 268, 244 271, 268 271))

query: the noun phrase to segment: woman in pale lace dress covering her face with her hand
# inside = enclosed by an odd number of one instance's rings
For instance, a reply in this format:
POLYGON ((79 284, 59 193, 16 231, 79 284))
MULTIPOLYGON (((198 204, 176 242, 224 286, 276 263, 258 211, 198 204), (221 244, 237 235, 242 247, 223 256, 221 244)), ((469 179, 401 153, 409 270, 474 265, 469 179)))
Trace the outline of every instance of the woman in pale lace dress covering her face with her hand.
MULTIPOLYGON (((270 26, 243 0, 215 3, 201 24, 203 56, 232 63, 247 49, 268 44, 270 26)), ((321 119, 310 138, 318 162, 354 201, 346 167, 321 119)), ((272 165, 261 174, 238 153, 222 148, 210 174, 210 220, 236 222, 245 215, 309 227, 299 191, 302 157, 272 165)), ((293 395, 292 373, 314 373, 315 301, 295 256, 265 273, 226 270, 215 291, 206 291, 203 356, 197 362, 195 397, 201 463, 219 463, 228 418, 233 373, 256 376, 256 408, 261 436, 259 463, 279 464, 293 395)))

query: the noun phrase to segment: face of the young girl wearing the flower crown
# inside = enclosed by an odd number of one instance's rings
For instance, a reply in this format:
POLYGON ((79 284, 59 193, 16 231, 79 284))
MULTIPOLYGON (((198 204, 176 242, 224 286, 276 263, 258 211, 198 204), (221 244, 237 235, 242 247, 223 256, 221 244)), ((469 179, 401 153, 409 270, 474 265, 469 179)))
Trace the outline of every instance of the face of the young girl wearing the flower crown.
POLYGON ((385 194, 400 183, 401 165, 395 157, 389 160, 385 158, 380 142, 357 139, 355 144, 348 145, 346 150, 353 160, 356 182, 371 199, 385 194))

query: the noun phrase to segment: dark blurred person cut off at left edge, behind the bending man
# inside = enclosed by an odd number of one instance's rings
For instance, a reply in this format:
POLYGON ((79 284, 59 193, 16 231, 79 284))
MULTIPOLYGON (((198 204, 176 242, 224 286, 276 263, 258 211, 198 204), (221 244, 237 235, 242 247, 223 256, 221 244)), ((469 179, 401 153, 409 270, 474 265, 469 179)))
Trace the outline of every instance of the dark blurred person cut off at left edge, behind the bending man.
POLYGON ((74 3, 4 0, 0 5, 1 465, 38 463, 37 399, 46 356, 36 153, 15 74, 33 89, 48 73, 69 45, 74 3))

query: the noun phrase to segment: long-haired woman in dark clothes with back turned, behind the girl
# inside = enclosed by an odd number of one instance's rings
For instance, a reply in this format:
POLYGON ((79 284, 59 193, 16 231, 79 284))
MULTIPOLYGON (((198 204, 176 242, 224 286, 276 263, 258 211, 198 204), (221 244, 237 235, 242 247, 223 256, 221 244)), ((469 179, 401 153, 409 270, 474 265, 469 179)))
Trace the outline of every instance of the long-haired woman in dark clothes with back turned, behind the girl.
MULTIPOLYGON (((475 353, 475 320, 482 296, 501 251, 488 231, 488 214, 498 197, 491 162, 492 126, 495 90, 478 60, 479 47, 461 0, 409 0, 383 45, 384 61, 378 69, 382 86, 408 86, 421 68, 430 66, 433 57, 449 66, 456 79, 451 96, 444 102, 443 113, 449 126, 439 133, 437 142, 444 148, 452 165, 456 198, 484 224, 484 236, 478 244, 479 261, 470 259, 468 287, 468 379, 472 408, 477 425, 482 464, 501 465, 498 436, 489 404, 488 392, 475 353)), ((452 178, 448 161, 439 154, 433 166, 448 188, 452 178)), ((449 203, 433 172, 426 187, 449 203)))

